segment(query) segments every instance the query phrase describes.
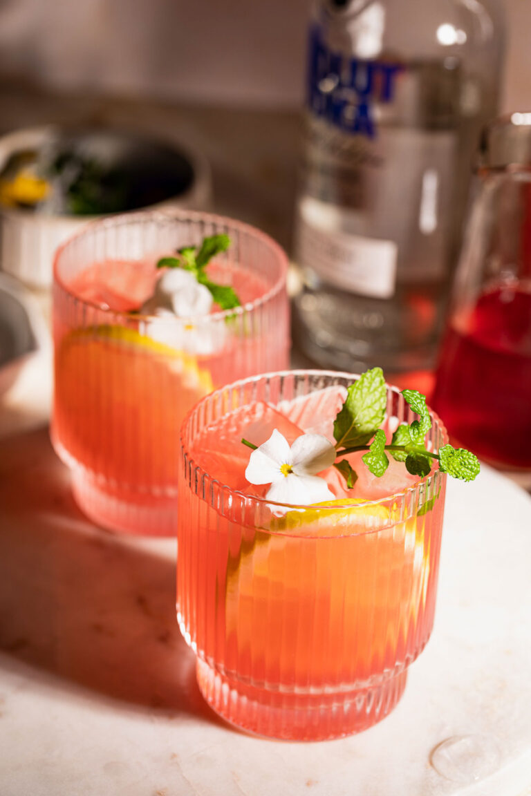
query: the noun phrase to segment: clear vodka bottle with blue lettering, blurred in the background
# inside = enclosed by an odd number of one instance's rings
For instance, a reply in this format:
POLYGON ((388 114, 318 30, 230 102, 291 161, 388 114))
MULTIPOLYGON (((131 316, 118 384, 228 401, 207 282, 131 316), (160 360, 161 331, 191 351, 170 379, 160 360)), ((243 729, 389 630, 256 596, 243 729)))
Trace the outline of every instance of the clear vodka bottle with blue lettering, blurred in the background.
POLYGON ((502 33, 495 0, 315 3, 295 335, 319 364, 431 367, 502 33))

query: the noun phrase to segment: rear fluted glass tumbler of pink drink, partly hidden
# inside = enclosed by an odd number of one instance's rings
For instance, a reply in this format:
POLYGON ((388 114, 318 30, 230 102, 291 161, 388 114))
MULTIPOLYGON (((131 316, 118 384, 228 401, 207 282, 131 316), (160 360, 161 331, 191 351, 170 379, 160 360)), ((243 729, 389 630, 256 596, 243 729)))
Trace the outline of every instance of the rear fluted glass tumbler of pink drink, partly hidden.
POLYGON ((205 213, 112 217, 59 249, 52 439, 84 513, 122 532, 175 533, 182 419, 228 380, 287 367, 286 273, 271 238, 205 213), (154 286, 158 258, 221 233, 231 245, 209 275, 242 306, 198 318, 116 310, 154 286))

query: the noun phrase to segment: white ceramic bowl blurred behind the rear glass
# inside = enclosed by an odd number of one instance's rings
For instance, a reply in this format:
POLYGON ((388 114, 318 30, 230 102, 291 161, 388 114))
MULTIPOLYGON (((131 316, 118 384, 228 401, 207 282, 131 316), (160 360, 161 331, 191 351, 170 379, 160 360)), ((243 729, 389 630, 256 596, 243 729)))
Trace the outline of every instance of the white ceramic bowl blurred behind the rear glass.
MULTIPOLYGON (((18 150, 38 149, 57 135, 53 126, 19 130, 0 137, 0 171, 18 150)), ((94 131, 91 131, 92 133, 94 131)), ((121 131, 102 131, 103 135, 127 135, 121 131)), ((146 140, 147 138, 144 137, 146 140)), ((160 141, 154 140, 154 143, 160 141)), ((206 158, 188 144, 163 142, 172 146, 188 161, 193 171, 189 188, 150 207, 209 209, 211 178, 206 158)), ((31 287, 49 287, 52 283, 53 255, 59 244, 74 235, 97 216, 50 216, 32 210, 11 209, 0 205, 0 266, 3 271, 31 287)))

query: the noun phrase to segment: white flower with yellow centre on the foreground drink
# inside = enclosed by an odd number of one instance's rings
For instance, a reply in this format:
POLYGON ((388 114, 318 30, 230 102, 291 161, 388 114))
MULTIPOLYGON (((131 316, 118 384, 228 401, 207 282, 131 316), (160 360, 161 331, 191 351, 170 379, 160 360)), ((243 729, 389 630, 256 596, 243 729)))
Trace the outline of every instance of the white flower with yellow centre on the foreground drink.
POLYGON ((310 505, 334 500, 324 478, 316 475, 334 464, 336 451, 321 434, 303 434, 293 445, 275 428, 263 445, 252 451, 245 478, 251 484, 271 484, 268 500, 310 505))

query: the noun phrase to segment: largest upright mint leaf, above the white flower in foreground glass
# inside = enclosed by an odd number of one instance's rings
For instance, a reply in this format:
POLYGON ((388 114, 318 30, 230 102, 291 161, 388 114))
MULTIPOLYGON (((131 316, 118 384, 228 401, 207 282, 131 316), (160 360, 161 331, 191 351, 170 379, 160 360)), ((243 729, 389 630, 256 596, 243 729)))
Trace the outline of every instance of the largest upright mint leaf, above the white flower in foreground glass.
POLYGON ((384 421, 387 390, 381 368, 367 370, 350 384, 346 401, 334 421, 336 447, 366 445, 384 421))

